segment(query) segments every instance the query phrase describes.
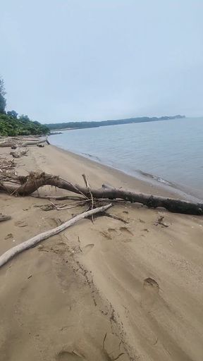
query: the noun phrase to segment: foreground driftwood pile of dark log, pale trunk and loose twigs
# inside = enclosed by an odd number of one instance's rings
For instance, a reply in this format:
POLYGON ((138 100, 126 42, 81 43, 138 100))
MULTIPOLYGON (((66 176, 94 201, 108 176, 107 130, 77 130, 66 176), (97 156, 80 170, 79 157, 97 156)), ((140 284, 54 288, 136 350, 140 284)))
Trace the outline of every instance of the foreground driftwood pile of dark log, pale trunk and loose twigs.
MULTIPOLYGON (((10 250, 6 251, 3 255, 0 256, 0 267, 6 264, 12 257, 17 255, 24 250, 27 250, 30 247, 33 247, 37 243, 45 240, 52 235, 55 235, 69 226, 72 226, 77 221, 87 217, 93 217, 94 214, 106 214, 107 209, 111 207, 111 203, 109 204, 109 200, 113 201, 121 201, 125 202, 139 202, 144 204, 149 208, 156 207, 164 207, 168 209, 170 212, 177 212, 183 214, 203 214, 203 203, 193 203, 187 202, 183 200, 176 200, 173 198, 166 197, 158 197, 154 195, 146 195, 142 193, 130 192, 129 190, 109 188, 109 186, 103 185, 101 189, 92 189, 87 181, 87 177, 83 175, 83 179, 85 181, 85 187, 80 185, 73 185, 72 183, 60 178, 59 176, 53 176, 47 173, 30 173, 29 176, 17 176, 16 173, 6 174, 2 172, 0 174, 0 191, 6 192, 10 195, 16 196, 28 196, 32 195, 36 190, 43 187, 44 185, 54 185, 54 187, 61 188, 64 190, 68 190, 69 192, 73 192, 77 194, 77 197, 71 197, 67 195, 65 197, 45 197, 46 199, 55 200, 66 200, 73 199, 75 201, 75 206, 87 204, 88 208, 86 212, 82 214, 78 214, 78 216, 73 217, 72 219, 66 221, 56 228, 53 228, 44 233, 40 233, 29 240, 26 240, 20 245, 16 245, 12 247, 10 250), (101 207, 97 207, 99 202, 108 202, 108 204, 102 205, 101 207)), ((40 197, 39 193, 36 197, 40 197)), ((44 197, 42 197, 44 198, 44 197)), ((56 209, 68 209, 71 208, 72 205, 68 204, 67 206, 57 207, 56 204, 52 203, 52 206, 56 207, 56 209)), ((106 214, 107 215, 107 214, 106 214)), ((6 216, 2 216, 3 218, 6 216)), ((1 216, 0 216, 1 219, 1 216)), ((9 219, 9 216, 8 216, 9 219)), ((2 219, 6 220, 6 219, 2 219)), ((93 218, 92 218, 93 221, 93 218)), ((162 222, 162 219, 161 219, 162 222)), ((163 222, 161 223, 163 224, 163 222)), ((165 226, 165 225, 164 225, 165 226)))

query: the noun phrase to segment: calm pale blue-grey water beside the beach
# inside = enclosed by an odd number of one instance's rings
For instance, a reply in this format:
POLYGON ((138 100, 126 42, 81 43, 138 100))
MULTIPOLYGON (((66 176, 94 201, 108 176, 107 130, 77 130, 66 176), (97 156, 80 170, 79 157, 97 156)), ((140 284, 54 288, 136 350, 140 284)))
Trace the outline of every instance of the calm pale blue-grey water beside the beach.
POLYGON ((65 130, 51 144, 203 198, 203 117, 65 130))

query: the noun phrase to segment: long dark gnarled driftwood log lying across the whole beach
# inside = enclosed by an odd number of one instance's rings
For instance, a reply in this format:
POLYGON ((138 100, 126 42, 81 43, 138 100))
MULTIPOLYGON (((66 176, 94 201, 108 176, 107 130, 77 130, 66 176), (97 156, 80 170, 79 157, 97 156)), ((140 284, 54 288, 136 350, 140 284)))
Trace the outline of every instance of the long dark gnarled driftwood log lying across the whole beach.
MULTIPOLYGON (((47 173, 30 173, 29 176, 16 176, 15 183, 2 181, 0 178, 0 190, 15 195, 31 195, 43 185, 54 185, 70 192, 90 198, 90 190, 80 185, 63 180, 59 176, 52 176, 47 173)), ((149 208, 164 207, 169 212, 183 214, 203 214, 203 202, 194 203, 185 200, 178 200, 168 197, 147 195, 116 188, 91 189, 92 197, 99 199, 116 200, 121 199, 128 202, 138 202, 149 208)))

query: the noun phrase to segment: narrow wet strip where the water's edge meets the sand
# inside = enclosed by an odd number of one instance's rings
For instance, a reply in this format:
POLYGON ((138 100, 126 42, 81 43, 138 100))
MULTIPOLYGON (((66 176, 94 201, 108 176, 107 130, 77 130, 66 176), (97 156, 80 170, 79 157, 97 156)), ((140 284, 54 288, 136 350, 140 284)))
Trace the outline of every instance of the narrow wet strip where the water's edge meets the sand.
MULTIPOLYGON (((171 183, 170 181, 166 181, 163 178, 159 177, 159 176, 155 176, 153 174, 144 172, 144 171, 136 171, 137 172, 137 176, 134 176, 133 174, 130 174, 126 171, 123 171, 122 169, 118 169, 116 167, 113 166, 109 166, 108 164, 104 164, 101 161, 97 161, 96 159, 93 159, 94 157, 85 157, 85 154, 78 154, 78 153, 74 153, 71 152, 70 150, 64 149, 63 147, 59 147, 57 145, 52 145, 50 143, 51 147, 55 147, 56 149, 58 149, 59 151, 65 152, 65 154, 70 154, 72 157, 75 157, 75 159, 79 160, 79 161, 90 161, 92 162, 92 164, 97 164, 99 166, 101 166, 101 168, 106 168, 109 169, 109 171, 111 172, 118 172, 118 176, 122 177, 130 177, 129 179, 131 181, 136 180, 137 182, 141 182, 144 185, 144 189, 146 189, 146 186, 148 185, 149 191, 150 188, 155 188, 156 190, 158 190, 160 195, 170 195, 173 197, 181 197, 184 200, 188 200, 191 202, 202 202, 202 199, 199 195, 195 194, 193 192, 193 190, 189 190, 188 188, 186 188, 183 185, 176 185, 176 183, 171 183), (159 179, 161 181, 159 181, 159 179)), ((91 164, 91 163, 90 163, 91 164)), ((141 187, 142 188, 142 187, 141 187)), ((148 191, 148 193, 149 193, 148 191)), ((146 192, 146 191, 145 191, 146 192)))

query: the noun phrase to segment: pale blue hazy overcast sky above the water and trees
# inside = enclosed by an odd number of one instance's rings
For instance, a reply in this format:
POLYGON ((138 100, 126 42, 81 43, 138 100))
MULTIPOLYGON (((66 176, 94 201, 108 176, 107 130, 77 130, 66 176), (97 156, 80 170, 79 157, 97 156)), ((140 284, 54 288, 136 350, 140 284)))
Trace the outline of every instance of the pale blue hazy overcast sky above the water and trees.
POLYGON ((1 0, 7 110, 203 116, 203 0, 1 0))

